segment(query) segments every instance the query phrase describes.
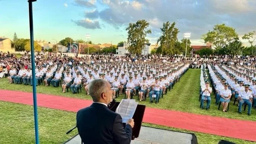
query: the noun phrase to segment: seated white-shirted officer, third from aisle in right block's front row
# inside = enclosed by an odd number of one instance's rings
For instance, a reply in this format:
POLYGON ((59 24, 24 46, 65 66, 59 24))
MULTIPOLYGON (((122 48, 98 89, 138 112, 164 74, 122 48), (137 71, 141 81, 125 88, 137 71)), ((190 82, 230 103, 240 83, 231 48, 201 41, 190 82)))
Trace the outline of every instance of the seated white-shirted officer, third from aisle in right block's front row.
POLYGON ((238 112, 241 113, 241 108, 244 103, 248 105, 248 115, 251 115, 251 109, 252 109, 252 91, 249 90, 250 85, 244 84, 245 90, 242 90, 239 93, 238 99, 239 99, 239 109, 238 112))

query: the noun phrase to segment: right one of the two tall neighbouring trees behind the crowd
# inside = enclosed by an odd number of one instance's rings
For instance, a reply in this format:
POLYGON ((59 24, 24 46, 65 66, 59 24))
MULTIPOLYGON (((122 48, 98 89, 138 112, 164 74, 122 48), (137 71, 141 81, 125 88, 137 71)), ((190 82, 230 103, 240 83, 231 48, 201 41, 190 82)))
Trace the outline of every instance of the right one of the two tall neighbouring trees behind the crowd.
POLYGON ((163 28, 160 28, 162 35, 157 39, 157 44, 160 42, 160 47, 157 48, 157 53, 164 55, 176 54, 177 49, 175 49, 175 42, 178 41, 177 35, 179 29, 175 28, 175 22, 172 24, 167 21, 163 23, 163 28))

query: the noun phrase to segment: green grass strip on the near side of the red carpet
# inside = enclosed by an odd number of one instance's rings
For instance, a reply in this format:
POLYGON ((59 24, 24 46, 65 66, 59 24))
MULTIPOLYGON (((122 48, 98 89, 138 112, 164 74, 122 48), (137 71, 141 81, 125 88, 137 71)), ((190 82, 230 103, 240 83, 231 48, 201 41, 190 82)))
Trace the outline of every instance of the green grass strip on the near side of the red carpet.
MULTIPOLYGON (((33 144, 35 129, 33 106, 0 101, 0 144, 33 144)), ((38 108, 39 141, 42 144, 60 144, 77 134, 77 130, 65 134, 76 125, 76 113, 49 108, 38 108)), ((195 133, 200 144, 217 144, 220 140, 237 144, 253 142, 221 137, 183 129, 143 123, 144 126, 173 131, 195 133)))

